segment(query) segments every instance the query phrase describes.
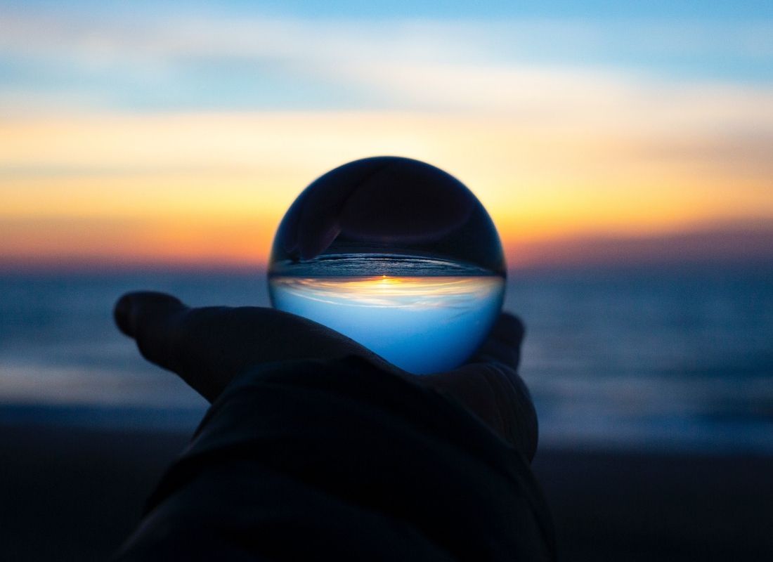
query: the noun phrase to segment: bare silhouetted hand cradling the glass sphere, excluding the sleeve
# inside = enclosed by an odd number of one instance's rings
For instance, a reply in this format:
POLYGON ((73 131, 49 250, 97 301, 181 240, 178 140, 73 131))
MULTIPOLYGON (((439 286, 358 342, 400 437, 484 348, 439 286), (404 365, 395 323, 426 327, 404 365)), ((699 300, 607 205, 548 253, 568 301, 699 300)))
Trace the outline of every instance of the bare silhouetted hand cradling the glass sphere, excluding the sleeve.
POLYGON ((209 402, 252 366, 356 355, 457 400, 527 458, 536 451, 536 413, 516 373, 523 323, 507 313, 471 362, 422 376, 398 369, 339 332, 274 308, 189 308, 170 295, 136 292, 117 301, 114 315, 145 359, 177 373, 209 402))

